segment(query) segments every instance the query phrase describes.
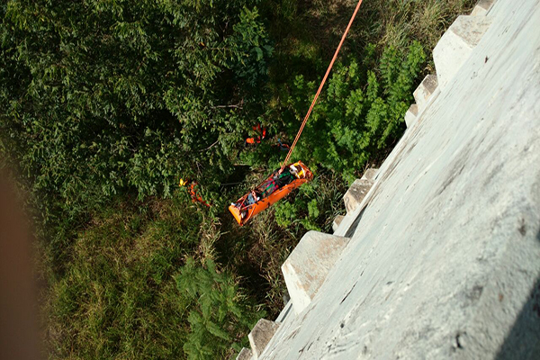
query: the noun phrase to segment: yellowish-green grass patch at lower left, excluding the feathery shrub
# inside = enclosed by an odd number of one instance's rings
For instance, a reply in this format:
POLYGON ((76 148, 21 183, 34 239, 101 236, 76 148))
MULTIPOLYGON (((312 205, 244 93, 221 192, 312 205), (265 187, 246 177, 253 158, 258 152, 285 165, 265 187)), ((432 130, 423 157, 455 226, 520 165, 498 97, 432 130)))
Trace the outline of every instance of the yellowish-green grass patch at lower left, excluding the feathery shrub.
POLYGON ((187 304, 172 275, 198 243, 190 211, 124 202, 79 233, 67 273, 49 293, 54 357, 183 356, 187 304))

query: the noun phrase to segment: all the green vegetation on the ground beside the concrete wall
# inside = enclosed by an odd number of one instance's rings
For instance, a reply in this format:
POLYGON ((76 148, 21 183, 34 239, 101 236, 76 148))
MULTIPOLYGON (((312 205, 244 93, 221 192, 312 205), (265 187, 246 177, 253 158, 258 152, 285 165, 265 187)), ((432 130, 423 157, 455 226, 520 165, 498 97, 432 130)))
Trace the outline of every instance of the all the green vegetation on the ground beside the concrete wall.
POLYGON ((284 259, 400 138, 430 49, 472 4, 366 1, 293 153, 316 178, 245 228, 226 206, 280 165, 355 2, 0 4, 0 156, 31 193, 50 356, 246 346, 283 307, 284 259), (258 123, 270 136, 245 147, 258 123))

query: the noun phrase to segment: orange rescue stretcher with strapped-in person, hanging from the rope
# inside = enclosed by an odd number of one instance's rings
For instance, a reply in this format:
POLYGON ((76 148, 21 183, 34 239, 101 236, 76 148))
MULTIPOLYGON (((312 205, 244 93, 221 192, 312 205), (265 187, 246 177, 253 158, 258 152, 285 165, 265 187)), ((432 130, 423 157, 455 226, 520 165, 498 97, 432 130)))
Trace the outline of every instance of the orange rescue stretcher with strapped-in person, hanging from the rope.
POLYGON ((268 209, 312 178, 311 170, 302 161, 290 164, 285 166, 282 172, 275 170, 255 190, 239 198, 238 202, 231 203, 229 211, 238 224, 243 226, 257 213, 268 209))

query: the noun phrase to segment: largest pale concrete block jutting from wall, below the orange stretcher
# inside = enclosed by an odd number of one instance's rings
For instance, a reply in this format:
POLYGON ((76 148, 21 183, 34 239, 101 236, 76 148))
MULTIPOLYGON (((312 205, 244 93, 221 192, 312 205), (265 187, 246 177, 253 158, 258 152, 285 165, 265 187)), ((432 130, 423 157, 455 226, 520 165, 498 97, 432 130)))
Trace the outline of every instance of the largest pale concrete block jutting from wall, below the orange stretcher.
POLYGON ((319 291, 349 238, 308 231, 282 266, 295 313, 301 313, 319 291))

